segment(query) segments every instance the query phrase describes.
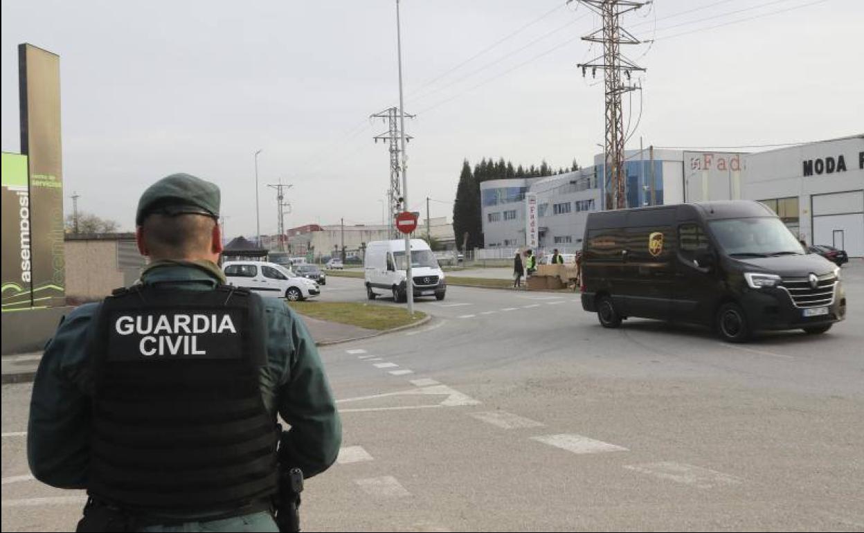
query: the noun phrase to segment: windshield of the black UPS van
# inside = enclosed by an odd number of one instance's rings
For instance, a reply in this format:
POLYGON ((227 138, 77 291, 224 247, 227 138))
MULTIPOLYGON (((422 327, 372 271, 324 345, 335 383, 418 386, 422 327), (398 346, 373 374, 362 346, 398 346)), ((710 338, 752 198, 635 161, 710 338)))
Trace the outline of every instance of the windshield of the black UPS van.
POLYGON ((804 248, 780 219, 711 220, 708 225, 730 257, 773 257, 804 254, 804 248))

